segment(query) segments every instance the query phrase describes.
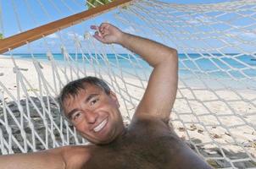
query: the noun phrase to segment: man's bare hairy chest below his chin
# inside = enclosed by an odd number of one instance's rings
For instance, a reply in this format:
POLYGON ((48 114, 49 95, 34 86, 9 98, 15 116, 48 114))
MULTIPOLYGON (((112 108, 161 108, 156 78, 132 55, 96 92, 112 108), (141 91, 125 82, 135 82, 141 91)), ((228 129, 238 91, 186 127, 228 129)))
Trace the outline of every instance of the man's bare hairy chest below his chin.
POLYGON ((170 168, 175 144, 179 144, 177 139, 168 134, 148 130, 131 133, 119 143, 93 150, 84 168, 170 168))

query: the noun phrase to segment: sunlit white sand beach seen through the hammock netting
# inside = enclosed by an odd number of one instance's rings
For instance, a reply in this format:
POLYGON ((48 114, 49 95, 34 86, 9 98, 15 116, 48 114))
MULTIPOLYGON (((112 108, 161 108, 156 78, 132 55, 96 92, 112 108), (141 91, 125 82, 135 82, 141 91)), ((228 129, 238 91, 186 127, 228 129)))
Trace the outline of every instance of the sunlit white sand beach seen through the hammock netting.
MULTIPOLYGON (((15 63, 19 67, 20 73, 23 74, 23 79, 26 79, 30 85, 26 84, 25 80, 23 80, 25 88, 21 84, 17 84, 14 60, 0 56, 0 90, 3 91, 4 97, 2 99, 7 102, 13 101, 12 97, 22 99, 26 92, 33 96, 40 94, 40 92, 42 92, 42 95, 47 95, 47 90, 39 85, 43 83, 43 79, 38 78, 38 72, 34 64, 30 60, 22 59, 15 59, 15 63)), ((48 85, 51 86, 47 88, 48 92, 52 95, 58 94, 60 82, 54 84, 53 79, 59 78, 62 83, 66 83, 66 77, 54 75, 51 63, 41 62, 38 68, 42 71, 48 85)), ((64 68, 62 69, 63 72, 61 72, 61 68, 58 71, 59 74, 64 74, 65 71, 65 74, 70 74, 64 68)), ((93 74, 88 73, 88 75, 93 74)), ((102 77, 109 84, 113 82, 113 79, 109 78, 107 74, 103 74, 102 77)), ((75 79, 75 77, 73 78, 75 79)), ((20 79, 18 78, 18 80, 20 79)), ((119 95, 121 112, 128 111, 123 116, 125 122, 129 123, 128 119, 135 111, 136 104, 142 97, 143 89, 132 85, 124 85, 121 79, 117 79, 116 82, 120 82, 120 86, 118 88, 114 84, 114 91, 118 95, 121 93, 119 95), (128 91, 130 96, 126 94, 128 91), (124 98, 127 101, 124 101, 124 98)), ((125 79, 125 83, 141 86, 141 81, 138 79, 125 79)), ((142 83, 147 85, 145 82, 142 83)), ((193 89, 192 86, 191 89, 193 89)), ((255 158, 256 132, 255 128, 249 125, 253 124, 255 127, 256 91, 244 89, 213 92, 211 90, 191 89, 182 86, 180 83, 174 112, 170 117, 177 134, 182 139, 188 140, 190 144, 196 145, 198 151, 204 157, 223 156, 221 152, 224 150, 225 155, 226 152, 229 152, 228 155, 235 159, 238 157, 246 158, 247 155, 252 155, 255 158)))

